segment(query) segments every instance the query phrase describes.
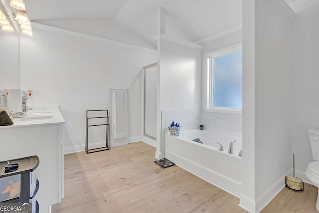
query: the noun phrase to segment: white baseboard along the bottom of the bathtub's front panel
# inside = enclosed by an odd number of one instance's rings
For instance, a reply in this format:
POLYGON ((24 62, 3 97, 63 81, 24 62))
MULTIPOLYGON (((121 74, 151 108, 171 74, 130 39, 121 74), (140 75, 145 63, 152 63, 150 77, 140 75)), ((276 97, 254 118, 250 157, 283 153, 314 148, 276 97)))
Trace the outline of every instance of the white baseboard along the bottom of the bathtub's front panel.
POLYGON ((218 172, 212 171, 202 165, 199 165, 189 159, 186 159, 176 153, 165 151, 166 158, 173 161, 177 166, 187 170, 188 172, 198 176, 199 178, 215 185, 216 187, 239 198, 241 183, 231 178, 225 177, 218 172))

